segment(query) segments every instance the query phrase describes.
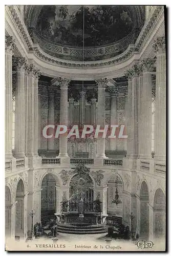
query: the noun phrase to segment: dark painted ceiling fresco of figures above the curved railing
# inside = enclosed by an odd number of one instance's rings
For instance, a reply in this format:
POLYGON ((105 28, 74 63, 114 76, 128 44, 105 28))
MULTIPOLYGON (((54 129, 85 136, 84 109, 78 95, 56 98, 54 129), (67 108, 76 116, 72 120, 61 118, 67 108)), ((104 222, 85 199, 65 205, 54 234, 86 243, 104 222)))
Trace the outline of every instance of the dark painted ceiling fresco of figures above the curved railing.
POLYGON ((133 20, 129 6, 43 6, 36 31, 57 44, 96 47, 128 35, 133 20))

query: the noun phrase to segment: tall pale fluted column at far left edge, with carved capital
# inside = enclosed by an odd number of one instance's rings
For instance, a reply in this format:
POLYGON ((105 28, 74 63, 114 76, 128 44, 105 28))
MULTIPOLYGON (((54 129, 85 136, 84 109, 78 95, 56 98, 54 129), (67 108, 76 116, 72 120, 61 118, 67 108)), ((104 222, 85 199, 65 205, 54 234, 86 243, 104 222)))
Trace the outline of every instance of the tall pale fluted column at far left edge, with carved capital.
POLYGON ((5 38, 5 157, 12 158, 12 36, 5 38))

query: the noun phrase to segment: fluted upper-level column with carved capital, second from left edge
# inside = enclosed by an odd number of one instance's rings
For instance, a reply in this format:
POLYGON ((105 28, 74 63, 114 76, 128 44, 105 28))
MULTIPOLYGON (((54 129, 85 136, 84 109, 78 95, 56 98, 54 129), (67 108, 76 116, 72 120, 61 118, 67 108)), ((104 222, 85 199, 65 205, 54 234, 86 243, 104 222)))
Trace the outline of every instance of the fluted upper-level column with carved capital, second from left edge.
POLYGON ((13 58, 13 68, 16 71, 15 89, 15 147, 16 158, 25 157, 25 58, 13 58))

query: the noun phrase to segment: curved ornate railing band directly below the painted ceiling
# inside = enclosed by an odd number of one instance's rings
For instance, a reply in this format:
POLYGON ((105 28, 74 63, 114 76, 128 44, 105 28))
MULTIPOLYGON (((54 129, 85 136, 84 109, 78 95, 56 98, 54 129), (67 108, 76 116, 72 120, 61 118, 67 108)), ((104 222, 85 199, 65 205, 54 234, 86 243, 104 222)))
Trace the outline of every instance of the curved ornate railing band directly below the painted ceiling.
POLYGON ((52 55, 53 57, 68 59, 68 60, 82 60, 84 56, 84 61, 89 60, 100 60, 114 57, 127 48, 128 45, 132 43, 133 37, 135 35, 134 30, 121 40, 114 42, 113 44, 103 45, 99 47, 73 47, 73 46, 63 46, 57 44, 45 37, 41 36, 34 28, 29 28, 29 33, 34 41, 34 44, 38 44, 46 53, 52 55))

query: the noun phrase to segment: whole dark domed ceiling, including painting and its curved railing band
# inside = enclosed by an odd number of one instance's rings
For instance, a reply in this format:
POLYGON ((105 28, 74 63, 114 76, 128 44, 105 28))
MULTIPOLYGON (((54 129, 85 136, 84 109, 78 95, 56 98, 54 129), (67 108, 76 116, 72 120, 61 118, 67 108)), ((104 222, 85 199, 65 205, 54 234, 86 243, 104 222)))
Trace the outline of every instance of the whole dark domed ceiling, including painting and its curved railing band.
POLYGON ((25 23, 33 42, 49 55, 94 61, 134 44, 144 13, 144 6, 25 6, 25 23))

